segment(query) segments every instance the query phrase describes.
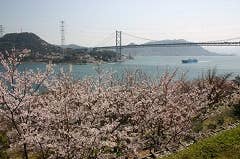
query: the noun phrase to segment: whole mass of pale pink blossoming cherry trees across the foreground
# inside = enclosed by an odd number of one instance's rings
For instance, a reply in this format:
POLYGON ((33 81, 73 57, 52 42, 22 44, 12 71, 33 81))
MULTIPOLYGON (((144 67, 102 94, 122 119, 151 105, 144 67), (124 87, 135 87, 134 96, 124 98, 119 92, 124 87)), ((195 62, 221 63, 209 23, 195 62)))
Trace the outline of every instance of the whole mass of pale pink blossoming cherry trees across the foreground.
POLYGON ((73 80, 17 69, 15 54, 1 56, 0 113, 11 123, 13 148, 40 152, 42 158, 153 158, 176 151, 192 134, 194 118, 206 118, 232 98, 228 76, 177 79, 166 72, 150 80, 140 70, 114 78, 98 66, 96 78, 73 80), (40 93, 43 86, 46 91, 40 93), (27 149, 28 146, 28 149, 27 149))

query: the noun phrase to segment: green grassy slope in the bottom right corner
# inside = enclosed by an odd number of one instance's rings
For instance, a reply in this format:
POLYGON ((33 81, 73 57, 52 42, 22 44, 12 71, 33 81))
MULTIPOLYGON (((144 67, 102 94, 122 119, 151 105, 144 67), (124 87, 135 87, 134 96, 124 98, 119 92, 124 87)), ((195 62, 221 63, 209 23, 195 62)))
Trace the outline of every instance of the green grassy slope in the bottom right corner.
POLYGON ((240 126, 201 140, 161 159, 240 159, 240 126))

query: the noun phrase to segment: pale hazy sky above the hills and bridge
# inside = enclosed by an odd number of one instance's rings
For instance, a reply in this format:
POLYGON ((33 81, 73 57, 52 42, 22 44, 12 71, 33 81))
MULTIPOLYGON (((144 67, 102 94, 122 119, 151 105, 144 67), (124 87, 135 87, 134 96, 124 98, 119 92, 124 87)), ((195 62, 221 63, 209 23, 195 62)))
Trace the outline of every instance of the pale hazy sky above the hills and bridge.
MULTIPOLYGON (((34 32, 59 44, 103 44, 122 30, 150 39, 208 41, 240 37, 240 0, 0 0, 5 32, 34 32), (106 39, 107 41, 107 39, 106 39)), ((107 44, 114 44, 114 36, 107 44)), ((136 39, 123 36, 129 43, 136 39)), ((105 43, 106 44, 106 43, 105 43)))

